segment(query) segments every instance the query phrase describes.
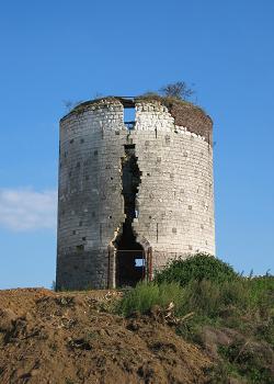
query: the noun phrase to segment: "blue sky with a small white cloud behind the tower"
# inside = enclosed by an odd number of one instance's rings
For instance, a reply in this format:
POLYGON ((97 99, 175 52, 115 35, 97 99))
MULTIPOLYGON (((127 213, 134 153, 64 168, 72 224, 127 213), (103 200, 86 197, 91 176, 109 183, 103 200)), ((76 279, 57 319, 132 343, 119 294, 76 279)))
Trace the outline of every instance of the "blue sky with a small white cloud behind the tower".
POLYGON ((274 1, 2 1, 0 289, 55 279, 64 100, 195 83, 215 128, 217 256, 274 273, 274 1))

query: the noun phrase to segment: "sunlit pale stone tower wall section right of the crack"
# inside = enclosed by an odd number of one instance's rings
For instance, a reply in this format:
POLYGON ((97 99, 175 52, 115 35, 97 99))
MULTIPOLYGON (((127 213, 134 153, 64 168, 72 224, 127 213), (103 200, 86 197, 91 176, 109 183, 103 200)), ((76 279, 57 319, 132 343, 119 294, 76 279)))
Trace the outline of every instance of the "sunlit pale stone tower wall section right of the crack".
POLYGON ((213 150, 181 126, 167 108, 137 104, 130 134, 141 176, 134 222, 138 240, 153 250, 153 268, 174 255, 215 255, 213 150))

